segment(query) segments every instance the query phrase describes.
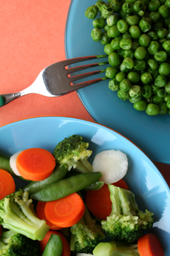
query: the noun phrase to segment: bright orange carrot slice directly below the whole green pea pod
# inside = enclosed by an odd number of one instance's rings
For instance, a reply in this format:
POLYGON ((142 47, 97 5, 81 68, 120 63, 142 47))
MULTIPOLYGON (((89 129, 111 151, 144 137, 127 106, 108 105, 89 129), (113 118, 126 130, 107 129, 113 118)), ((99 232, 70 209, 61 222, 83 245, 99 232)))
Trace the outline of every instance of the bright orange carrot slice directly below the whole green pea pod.
POLYGON ((77 193, 46 203, 45 214, 51 223, 68 228, 78 223, 85 211, 84 201, 77 193))

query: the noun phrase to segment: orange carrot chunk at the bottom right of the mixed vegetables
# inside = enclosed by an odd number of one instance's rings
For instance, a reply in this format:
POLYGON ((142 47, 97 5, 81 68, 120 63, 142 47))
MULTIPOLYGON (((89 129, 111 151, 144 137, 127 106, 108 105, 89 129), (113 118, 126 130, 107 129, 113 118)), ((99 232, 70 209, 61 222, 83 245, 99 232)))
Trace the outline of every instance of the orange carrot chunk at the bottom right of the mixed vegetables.
POLYGON ((165 256, 163 247, 155 234, 144 234, 137 241, 140 256, 165 256))

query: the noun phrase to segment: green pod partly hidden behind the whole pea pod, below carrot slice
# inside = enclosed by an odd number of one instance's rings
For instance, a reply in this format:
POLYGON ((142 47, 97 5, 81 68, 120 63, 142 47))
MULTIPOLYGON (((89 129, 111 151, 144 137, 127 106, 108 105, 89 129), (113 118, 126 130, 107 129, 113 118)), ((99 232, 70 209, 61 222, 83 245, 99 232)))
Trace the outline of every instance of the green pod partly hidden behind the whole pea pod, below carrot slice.
POLYGON ((29 193, 29 196, 31 196, 35 192, 39 191, 41 188, 44 188, 45 186, 55 183, 58 180, 62 180, 66 174, 67 174, 66 166, 57 165, 54 171, 52 171, 52 174, 50 175, 50 177, 48 177, 45 180, 33 181, 27 184, 26 186, 24 186, 22 189, 24 191, 27 191, 29 193))

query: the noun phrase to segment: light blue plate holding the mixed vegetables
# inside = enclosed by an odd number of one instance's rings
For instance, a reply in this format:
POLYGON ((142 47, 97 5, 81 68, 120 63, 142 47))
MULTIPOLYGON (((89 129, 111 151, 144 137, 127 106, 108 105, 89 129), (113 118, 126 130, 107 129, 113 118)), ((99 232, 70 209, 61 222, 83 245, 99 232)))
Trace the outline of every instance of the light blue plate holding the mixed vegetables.
MULTIPOLYGON (((24 119, 0 128, 0 152, 10 156, 21 149, 33 147, 52 152, 58 142, 72 134, 79 134, 89 142, 93 151, 91 162, 95 154, 112 148, 127 155, 129 170, 126 183, 135 193, 139 208, 154 212, 155 223, 151 231, 160 239, 165 255, 169 256, 169 186, 146 154, 117 132, 93 122, 61 116, 24 119)), ((16 183, 17 188, 23 186, 19 179, 16 183)))

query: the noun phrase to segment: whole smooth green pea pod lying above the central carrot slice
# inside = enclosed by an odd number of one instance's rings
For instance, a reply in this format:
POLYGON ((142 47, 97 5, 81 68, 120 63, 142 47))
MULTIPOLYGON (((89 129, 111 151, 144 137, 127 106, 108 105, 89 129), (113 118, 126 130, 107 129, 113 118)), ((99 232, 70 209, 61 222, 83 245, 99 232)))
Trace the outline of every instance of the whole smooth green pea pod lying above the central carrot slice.
POLYGON ((101 172, 78 174, 59 180, 31 195, 33 200, 49 202, 80 191, 101 178, 101 172))

